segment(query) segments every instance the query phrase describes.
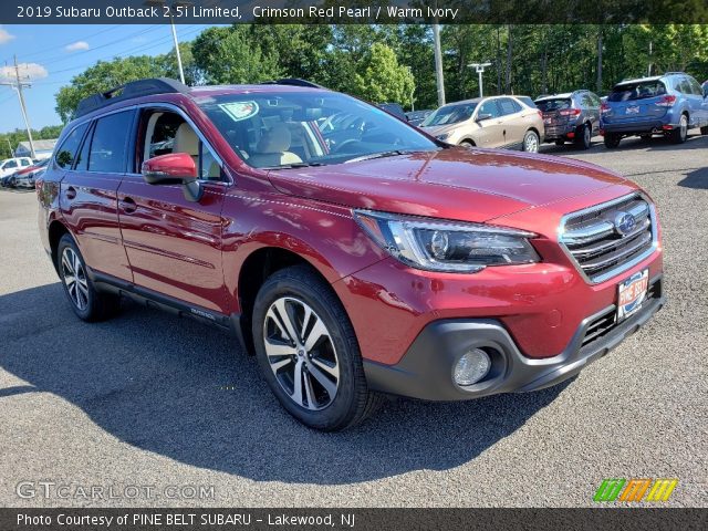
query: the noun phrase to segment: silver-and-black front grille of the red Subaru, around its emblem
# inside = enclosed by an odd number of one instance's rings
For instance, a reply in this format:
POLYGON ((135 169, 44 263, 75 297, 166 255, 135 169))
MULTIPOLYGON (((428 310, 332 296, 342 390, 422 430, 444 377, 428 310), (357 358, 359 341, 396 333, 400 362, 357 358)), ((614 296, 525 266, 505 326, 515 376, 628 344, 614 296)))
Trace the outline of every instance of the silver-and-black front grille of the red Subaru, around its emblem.
POLYGON ((560 235, 561 244, 595 283, 635 266, 652 252, 656 242, 652 206, 638 195, 566 216, 560 235), (628 230, 627 223, 620 223, 624 214, 634 219, 628 230))

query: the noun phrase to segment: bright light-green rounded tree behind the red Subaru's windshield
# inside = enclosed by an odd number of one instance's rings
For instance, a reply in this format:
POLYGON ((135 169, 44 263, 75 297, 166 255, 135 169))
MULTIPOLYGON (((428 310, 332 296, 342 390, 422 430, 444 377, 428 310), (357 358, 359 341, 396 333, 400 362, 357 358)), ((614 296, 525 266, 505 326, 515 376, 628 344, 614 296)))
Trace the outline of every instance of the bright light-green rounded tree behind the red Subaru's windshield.
POLYGON ((374 103, 410 105, 415 88, 413 73, 398 64, 396 53, 386 44, 374 43, 362 56, 356 70, 353 84, 356 95, 374 103))

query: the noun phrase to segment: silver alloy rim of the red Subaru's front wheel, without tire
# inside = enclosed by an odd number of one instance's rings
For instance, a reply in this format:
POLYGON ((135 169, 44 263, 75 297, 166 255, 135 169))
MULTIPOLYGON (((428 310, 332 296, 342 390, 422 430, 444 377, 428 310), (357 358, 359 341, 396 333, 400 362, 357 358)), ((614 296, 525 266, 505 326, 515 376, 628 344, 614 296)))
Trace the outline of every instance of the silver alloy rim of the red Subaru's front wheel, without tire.
POLYGON ((263 321, 263 345, 275 379, 298 406, 321 410, 334 400, 340 363, 322 319, 306 303, 282 296, 263 321))

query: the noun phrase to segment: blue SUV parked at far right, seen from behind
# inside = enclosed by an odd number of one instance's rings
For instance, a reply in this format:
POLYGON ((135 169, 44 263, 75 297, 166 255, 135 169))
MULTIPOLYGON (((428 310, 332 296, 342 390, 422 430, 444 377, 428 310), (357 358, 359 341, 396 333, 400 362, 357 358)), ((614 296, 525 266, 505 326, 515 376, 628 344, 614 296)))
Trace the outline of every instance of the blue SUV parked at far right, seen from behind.
POLYGON ((601 107, 601 129, 610 148, 633 135, 648 140, 662 134, 680 144, 693 127, 708 135, 708 90, 683 72, 623 81, 601 107))

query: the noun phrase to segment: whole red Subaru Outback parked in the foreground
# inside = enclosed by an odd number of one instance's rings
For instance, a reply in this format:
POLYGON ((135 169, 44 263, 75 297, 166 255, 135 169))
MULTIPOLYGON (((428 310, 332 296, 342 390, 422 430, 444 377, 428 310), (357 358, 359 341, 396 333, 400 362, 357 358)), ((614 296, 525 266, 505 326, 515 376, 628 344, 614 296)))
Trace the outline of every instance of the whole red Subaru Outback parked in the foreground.
POLYGON ((74 312, 233 330, 284 408, 548 387, 664 303, 656 210, 589 164, 466 149, 299 80, 83 101, 37 185, 74 312))

